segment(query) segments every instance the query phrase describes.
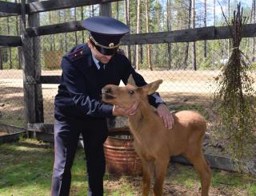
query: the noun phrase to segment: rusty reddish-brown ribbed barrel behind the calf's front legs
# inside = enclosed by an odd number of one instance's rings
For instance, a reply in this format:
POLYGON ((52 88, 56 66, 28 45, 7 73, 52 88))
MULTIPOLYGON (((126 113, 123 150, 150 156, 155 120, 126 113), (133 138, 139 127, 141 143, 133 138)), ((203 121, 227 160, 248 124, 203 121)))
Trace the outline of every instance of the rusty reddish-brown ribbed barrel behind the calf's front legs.
POLYGON ((134 151, 134 139, 128 127, 110 130, 104 143, 106 172, 109 174, 140 175, 142 163, 134 151))

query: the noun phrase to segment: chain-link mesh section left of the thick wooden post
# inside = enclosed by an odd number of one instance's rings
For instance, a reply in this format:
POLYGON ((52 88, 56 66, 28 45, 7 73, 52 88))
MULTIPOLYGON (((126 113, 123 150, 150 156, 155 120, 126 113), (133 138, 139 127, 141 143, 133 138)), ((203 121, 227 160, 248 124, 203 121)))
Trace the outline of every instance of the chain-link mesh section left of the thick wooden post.
POLYGON ((19 48, 0 48, 0 123, 25 127, 22 58, 19 48))

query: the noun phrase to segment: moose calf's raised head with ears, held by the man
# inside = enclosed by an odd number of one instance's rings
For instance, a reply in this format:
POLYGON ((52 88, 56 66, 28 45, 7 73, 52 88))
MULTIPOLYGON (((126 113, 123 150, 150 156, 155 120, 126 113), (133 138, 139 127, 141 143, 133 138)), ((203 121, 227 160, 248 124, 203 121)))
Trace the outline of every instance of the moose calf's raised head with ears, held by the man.
POLYGON ((162 80, 156 80, 142 87, 137 87, 130 75, 128 83, 124 87, 108 84, 102 88, 102 101, 115 104, 121 108, 130 108, 133 104, 147 101, 147 95, 154 93, 162 80))

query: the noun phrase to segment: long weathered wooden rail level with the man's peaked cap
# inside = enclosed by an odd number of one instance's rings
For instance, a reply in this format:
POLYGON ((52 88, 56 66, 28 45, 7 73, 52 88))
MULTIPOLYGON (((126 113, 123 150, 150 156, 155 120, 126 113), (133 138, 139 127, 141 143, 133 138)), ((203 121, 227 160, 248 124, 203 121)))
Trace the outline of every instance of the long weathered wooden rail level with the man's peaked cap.
MULTIPOLYGON (((256 24, 243 25, 242 37, 256 37, 256 24)), ((81 22, 66 22, 58 25, 45 25, 26 29, 29 37, 74 32, 84 30, 81 22)), ((231 38, 230 26, 209 26, 195 29, 182 29, 170 32, 139 33, 125 35, 121 45, 145 45, 161 43, 178 43, 202 40, 216 40, 231 38)), ((21 37, 0 36, 0 45, 22 45, 21 37)))

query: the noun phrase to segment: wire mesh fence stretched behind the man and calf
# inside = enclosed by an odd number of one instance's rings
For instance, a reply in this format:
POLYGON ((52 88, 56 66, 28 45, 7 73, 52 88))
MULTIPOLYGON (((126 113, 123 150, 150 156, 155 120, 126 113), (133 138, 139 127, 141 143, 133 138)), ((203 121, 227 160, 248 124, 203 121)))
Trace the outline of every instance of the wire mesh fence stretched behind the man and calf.
MULTIPOLYGON (((72 33, 69 36, 71 35, 72 33)), ((38 45, 42 76, 61 76, 60 62, 66 51, 64 47, 56 47, 55 45, 54 50, 50 45, 44 45, 42 41, 46 38, 41 37, 41 44, 38 45)), ((254 38, 244 38, 241 45, 243 53, 248 56, 247 62, 251 69, 254 69, 255 66, 253 47, 250 47, 253 42, 254 38)), ((171 44, 171 53, 168 53, 168 44, 151 45, 153 70, 150 70, 148 68, 146 45, 142 45, 140 69, 137 72, 147 82, 163 80, 158 92, 160 92, 162 99, 166 101, 170 111, 191 109, 205 116, 208 122, 207 131, 212 135, 204 144, 206 151, 229 155, 226 139, 219 137, 222 130, 216 130, 216 127, 214 127, 216 111, 214 111, 212 104, 214 92, 217 88, 216 80, 218 80, 220 70, 229 57, 227 51, 232 49, 228 40, 206 41, 206 43, 205 41, 196 41, 196 56, 194 59, 193 46, 192 42, 171 44), (205 50, 205 44, 208 45, 207 50, 205 50), (186 49, 188 49, 187 53, 186 49), (194 61, 196 61, 196 71, 194 70, 194 61)), ((67 50, 72 47, 74 45, 67 45, 67 50)), ((126 52, 126 46, 121 48, 126 52)), ((134 45, 131 45, 130 49, 131 64, 134 66, 134 45)), ((19 65, 22 58, 18 55, 18 48, 11 50, 14 54, 17 53, 15 57, 11 57, 11 60, 13 60, 12 67, 10 67, 9 48, 1 49, 0 123, 25 127, 23 80, 22 69, 20 69, 22 66, 19 65)), ((254 72, 250 74, 254 79, 256 78, 254 72)), ((254 88, 256 88, 255 84, 254 88)), ((42 84, 44 123, 54 123, 54 96, 57 92, 58 84, 42 84)), ((255 158, 252 157, 251 159, 255 158)))

